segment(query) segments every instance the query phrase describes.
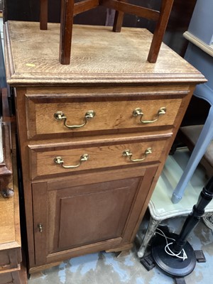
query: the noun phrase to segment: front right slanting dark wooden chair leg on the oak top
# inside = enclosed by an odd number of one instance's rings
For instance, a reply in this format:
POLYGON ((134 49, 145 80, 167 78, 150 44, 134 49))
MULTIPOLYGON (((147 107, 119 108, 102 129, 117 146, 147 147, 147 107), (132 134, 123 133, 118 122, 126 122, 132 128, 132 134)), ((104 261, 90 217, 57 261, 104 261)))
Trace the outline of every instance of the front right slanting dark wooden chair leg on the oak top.
POLYGON ((155 28, 151 48, 148 53, 148 62, 155 63, 157 61, 160 45, 163 41, 163 35, 168 24, 170 11, 173 7, 173 1, 174 0, 162 0, 160 18, 155 28))

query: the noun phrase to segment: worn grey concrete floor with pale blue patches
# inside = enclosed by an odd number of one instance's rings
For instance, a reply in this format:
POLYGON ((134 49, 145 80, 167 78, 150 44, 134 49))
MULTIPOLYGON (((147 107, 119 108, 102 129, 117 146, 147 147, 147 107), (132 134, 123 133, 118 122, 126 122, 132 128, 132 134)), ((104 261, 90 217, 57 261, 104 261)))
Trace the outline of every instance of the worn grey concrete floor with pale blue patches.
MULTIPOLYGON (((180 158, 180 157, 179 157, 180 158)), ((187 163, 187 161, 184 161, 187 163)), ((200 170, 204 170, 200 168, 200 170)), ((175 173, 174 173, 175 174, 175 173)), ((196 172, 195 172, 196 175, 196 172)), ((213 201, 212 201, 213 202, 213 201)), ((179 233, 185 217, 168 219, 171 231, 179 233)), ((143 220, 146 225, 146 218, 143 220)), ((193 249, 204 252, 206 263, 197 263, 195 270, 185 277, 187 284, 212 283, 211 269, 213 265, 213 234, 201 220, 188 241, 193 249)), ((146 271, 137 256, 136 247, 129 253, 92 253, 72 258, 60 263, 60 266, 49 268, 41 273, 31 275, 28 284, 173 284, 175 280, 165 275, 159 268, 146 271)))

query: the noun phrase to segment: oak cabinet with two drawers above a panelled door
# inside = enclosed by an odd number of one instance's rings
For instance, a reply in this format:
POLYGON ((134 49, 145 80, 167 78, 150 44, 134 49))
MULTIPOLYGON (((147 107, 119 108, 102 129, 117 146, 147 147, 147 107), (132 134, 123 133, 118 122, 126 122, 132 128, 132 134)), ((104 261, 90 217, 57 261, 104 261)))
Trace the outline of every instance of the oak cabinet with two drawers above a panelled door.
POLYGON ((30 272, 94 251, 130 249, 197 83, 143 29, 75 26, 71 65, 58 24, 5 26, 15 87, 30 272))

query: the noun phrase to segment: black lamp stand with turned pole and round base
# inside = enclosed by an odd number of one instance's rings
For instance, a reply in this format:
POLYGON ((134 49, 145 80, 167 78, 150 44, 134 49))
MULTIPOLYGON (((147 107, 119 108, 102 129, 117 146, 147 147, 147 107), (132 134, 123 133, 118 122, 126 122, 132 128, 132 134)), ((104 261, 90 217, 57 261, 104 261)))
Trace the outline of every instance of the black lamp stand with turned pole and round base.
POLYGON ((204 208, 211 202, 213 198, 213 177, 209 179, 207 185, 205 185, 200 192, 200 196, 197 200, 197 204, 194 205, 191 214, 185 220, 182 226, 180 234, 169 233, 167 237, 175 239, 173 244, 170 244, 170 250, 179 256, 182 256, 182 249, 184 249, 187 258, 185 260, 176 256, 170 256, 165 252, 165 237, 158 234, 155 235, 155 239, 152 245, 152 256, 156 265, 163 270, 164 273, 173 276, 175 278, 184 277, 190 274, 196 265, 197 258, 195 251, 187 241, 187 237, 191 233, 195 226, 197 226, 200 218, 204 214, 204 208))

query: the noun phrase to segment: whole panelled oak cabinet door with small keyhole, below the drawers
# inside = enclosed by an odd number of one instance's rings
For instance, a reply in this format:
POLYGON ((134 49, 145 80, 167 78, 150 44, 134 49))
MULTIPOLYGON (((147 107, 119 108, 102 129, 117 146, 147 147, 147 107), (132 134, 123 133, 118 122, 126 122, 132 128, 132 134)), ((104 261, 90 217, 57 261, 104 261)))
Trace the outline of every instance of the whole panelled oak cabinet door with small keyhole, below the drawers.
POLYGON ((35 265, 131 244, 155 171, 131 168, 34 184, 35 265))

